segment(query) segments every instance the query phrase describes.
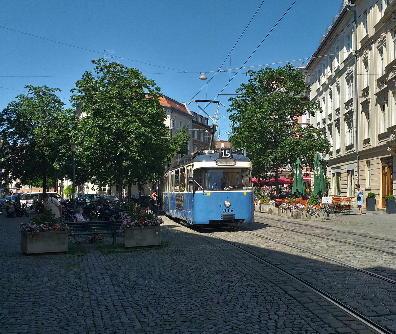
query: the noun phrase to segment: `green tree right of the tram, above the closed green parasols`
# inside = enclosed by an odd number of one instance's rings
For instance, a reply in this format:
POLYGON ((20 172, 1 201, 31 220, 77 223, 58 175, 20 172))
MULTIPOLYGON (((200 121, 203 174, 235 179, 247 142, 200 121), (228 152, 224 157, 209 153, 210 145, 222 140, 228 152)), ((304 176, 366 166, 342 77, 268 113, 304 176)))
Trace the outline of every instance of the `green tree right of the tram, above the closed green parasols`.
POLYGON ((324 132, 307 126, 302 128, 298 117, 315 116, 316 102, 301 103, 309 91, 305 77, 291 63, 285 67, 247 71, 250 79, 230 98, 233 147, 246 147, 252 161, 253 175, 275 176, 279 194, 279 167, 293 166, 299 157, 305 166, 313 167, 316 152, 328 153, 330 144, 324 132))

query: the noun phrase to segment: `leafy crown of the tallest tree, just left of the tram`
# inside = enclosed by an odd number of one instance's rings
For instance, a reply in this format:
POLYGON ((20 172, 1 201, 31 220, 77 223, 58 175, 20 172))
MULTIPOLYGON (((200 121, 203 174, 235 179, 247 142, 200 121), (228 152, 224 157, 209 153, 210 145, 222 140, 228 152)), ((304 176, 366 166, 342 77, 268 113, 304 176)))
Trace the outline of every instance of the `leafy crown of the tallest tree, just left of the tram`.
POLYGON ((97 184, 144 181, 162 170, 169 143, 160 87, 135 68, 94 59, 71 91, 83 117, 74 131, 78 159, 97 184), (82 135, 84 134, 84 135, 82 135))

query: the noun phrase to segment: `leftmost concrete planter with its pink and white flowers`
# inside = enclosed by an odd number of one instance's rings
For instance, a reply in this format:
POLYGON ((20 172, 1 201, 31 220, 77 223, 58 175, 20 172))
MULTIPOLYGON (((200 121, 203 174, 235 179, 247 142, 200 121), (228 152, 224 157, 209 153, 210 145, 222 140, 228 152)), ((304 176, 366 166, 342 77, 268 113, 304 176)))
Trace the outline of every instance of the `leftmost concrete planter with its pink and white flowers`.
POLYGON ((21 250, 26 254, 67 252, 69 226, 55 224, 50 209, 40 216, 33 216, 29 223, 19 224, 21 250))

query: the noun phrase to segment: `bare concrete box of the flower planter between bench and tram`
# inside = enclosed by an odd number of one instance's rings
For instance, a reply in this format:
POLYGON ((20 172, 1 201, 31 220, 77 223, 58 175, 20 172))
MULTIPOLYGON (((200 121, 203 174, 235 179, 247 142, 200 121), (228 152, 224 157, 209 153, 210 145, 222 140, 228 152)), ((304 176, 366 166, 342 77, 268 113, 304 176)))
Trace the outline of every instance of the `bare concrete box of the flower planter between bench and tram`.
POLYGON ((157 226, 128 227, 124 230, 125 247, 161 245, 161 228, 157 226))

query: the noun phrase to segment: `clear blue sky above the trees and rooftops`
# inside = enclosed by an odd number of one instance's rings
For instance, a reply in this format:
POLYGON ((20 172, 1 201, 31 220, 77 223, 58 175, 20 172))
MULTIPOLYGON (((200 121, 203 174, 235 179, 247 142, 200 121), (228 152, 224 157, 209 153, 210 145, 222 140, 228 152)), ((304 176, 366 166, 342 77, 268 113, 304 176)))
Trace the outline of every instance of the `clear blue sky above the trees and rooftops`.
MULTIPOLYGON (((293 1, 266 0, 232 51, 231 64, 228 58, 222 68, 242 66, 293 1)), ((92 70, 91 59, 102 57, 104 50, 120 51, 114 53, 115 57, 192 72, 114 59, 154 79, 162 93, 189 102, 208 82, 198 80, 199 72, 219 69, 261 2, 3 1, 1 26, 99 53, 0 28, 0 110, 22 93, 15 90, 25 91, 28 84, 59 87, 62 92, 58 96, 70 107, 70 89, 86 70, 92 70)), ((333 15, 338 14, 340 4, 341 0, 297 0, 245 66, 310 57, 333 15)), ((293 64, 298 66, 301 62, 293 64)), ((234 93, 240 83, 246 82, 244 72, 241 70, 223 93, 234 93)), ((207 74, 209 79, 212 75, 207 74)), ((225 104, 226 108, 219 110, 219 116, 223 117, 218 121, 218 134, 225 140, 230 96, 217 94, 229 78, 230 73, 217 73, 207 89, 196 96, 196 99, 218 99, 225 104)), ((198 111, 194 102, 189 108, 198 111)), ((207 110, 209 114, 214 111, 207 110)))

